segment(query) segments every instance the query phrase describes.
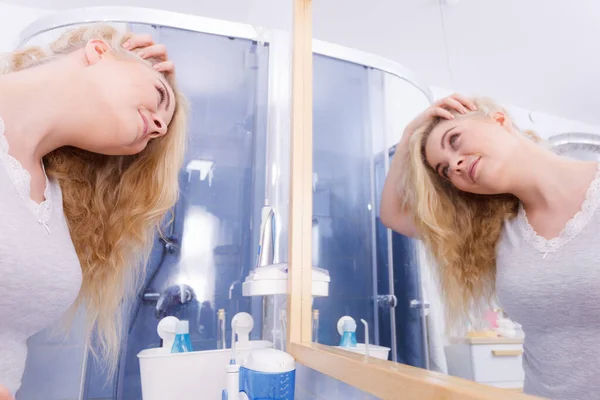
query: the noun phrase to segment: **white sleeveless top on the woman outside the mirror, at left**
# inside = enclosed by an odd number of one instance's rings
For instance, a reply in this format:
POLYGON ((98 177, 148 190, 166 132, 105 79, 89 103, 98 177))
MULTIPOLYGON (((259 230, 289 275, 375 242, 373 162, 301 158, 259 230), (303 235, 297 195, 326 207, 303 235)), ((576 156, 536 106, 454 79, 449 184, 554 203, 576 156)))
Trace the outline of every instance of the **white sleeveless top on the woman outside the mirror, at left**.
POLYGON ((60 187, 46 180, 46 201, 31 200, 30 176, 8 154, 0 119, 0 384, 21 385, 27 345, 56 322, 81 287, 81 267, 62 209, 60 187))

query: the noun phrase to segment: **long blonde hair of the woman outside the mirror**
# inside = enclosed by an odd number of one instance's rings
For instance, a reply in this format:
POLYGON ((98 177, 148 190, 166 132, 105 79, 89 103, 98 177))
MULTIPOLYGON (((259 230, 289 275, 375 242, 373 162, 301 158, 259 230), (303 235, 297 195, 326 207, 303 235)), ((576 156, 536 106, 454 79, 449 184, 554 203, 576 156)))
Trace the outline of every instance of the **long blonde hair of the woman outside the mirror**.
MULTIPOLYGON (((64 33, 47 49, 31 47, 11 55, 6 72, 50 62, 83 48, 91 39, 106 41, 119 57, 144 61, 123 49, 131 37, 109 25, 86 25, 64 33)), ((109 376, 118 363, 123 305, 145 272, 155 233, 178 194, 183 163, 187 103, 172 76, 166 76, 176 108, 166 135, 139 154, 105 156, 63 147, 43 159, 48 176, 61 187, 63 209, 81 263, 83 283, 72 310, 83 306, 88 337, 97 330, 101 361, 109 376)))

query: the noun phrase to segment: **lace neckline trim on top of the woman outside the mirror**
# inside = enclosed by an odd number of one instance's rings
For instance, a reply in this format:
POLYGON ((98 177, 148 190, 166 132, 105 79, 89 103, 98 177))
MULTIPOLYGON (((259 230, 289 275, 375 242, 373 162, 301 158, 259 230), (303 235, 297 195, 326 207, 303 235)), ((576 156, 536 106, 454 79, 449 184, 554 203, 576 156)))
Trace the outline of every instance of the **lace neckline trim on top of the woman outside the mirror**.
MULTIPOLYGON (((31 175, 23 168, 17 159, 9 154, 9 146, 8 141, 4 136, 4 121, 2 118, 0 118, 0 159, 25 204, 31 210, 38 222, 48 229, 48 223, 50 222, 52 213, 52 197, 50 195, 50 182, 48 176, 46 176, 46 189, 44 190, 45 200, 38 204, 31 199, 31 175)), ((42 168, 43 167, 44 165, 42 164, 42 168)), ((45 170, 44 175, 46 175, 45 170)))

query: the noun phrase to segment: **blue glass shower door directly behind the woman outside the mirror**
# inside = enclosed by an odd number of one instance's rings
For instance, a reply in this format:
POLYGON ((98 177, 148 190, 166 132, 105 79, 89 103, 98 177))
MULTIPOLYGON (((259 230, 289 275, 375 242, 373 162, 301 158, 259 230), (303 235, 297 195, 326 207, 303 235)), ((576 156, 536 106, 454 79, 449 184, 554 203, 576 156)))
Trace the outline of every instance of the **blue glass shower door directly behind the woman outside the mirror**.
POLYGON ((217 348, 219 309, 226 326, 235 313, 251 311, 241 282, 254 263, 264 201, 268 47, 173 28, 131 28, 164 43, 177 65, 191 108, 188 149, 168 241, 156 239, 131 307, 117 382, 104 386, 101 370, 90 363, 87 399, 141 399, 137 354, 160 346, 160 318, 189 320, 194 349, 209 350, 217 348))

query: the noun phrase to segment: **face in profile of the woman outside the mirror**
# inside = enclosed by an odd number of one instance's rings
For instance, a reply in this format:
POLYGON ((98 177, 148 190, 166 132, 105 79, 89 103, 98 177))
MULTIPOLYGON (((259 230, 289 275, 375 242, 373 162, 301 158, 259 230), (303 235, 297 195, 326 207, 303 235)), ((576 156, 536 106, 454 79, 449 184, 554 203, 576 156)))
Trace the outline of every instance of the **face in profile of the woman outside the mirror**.
POLYGON ((85 48, 86 81, 94 113, 86 150, 130 155, 167 133, 175 112, 175 93, 165 77, 135 58, 115 55, 103 41, 85 48))

